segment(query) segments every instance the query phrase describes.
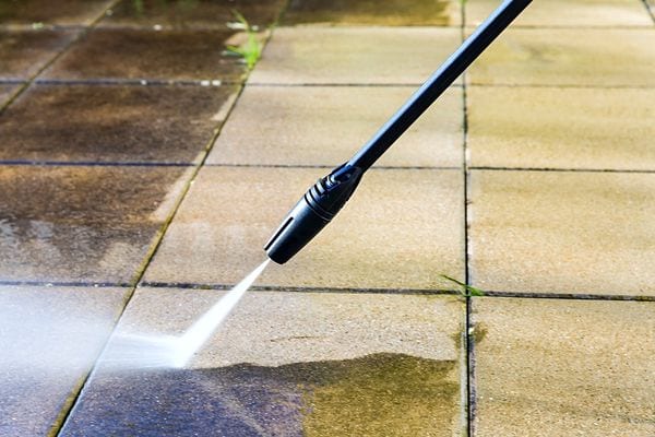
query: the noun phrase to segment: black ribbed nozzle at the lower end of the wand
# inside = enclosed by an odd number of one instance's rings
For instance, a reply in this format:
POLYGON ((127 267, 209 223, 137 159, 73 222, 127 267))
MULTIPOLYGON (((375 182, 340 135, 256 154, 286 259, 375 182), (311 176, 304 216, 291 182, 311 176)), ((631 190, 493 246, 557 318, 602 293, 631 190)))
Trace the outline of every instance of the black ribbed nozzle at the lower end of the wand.
POLYGON ((269 258, 284 264, 302 249, 348 201, 361 174, 343 164, 311 186, 264 246, 269 258))

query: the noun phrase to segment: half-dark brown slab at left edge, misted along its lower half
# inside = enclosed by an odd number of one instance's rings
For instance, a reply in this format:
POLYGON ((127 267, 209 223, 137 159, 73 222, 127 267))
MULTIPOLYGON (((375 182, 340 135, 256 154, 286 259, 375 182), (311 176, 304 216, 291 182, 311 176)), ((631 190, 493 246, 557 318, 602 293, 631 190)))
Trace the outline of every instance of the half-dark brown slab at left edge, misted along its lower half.
POLYGON ((190 172, 0 166, 0 281, 131 281, 190 172))

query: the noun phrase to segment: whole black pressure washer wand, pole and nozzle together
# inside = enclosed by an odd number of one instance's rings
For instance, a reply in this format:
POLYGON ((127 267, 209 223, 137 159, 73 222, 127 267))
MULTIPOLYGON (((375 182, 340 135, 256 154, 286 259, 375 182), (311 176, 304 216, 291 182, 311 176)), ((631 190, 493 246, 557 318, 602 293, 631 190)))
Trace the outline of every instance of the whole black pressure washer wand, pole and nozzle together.
POLYGON ((505 0, 398 111, 345 164, 319 179, 294 206, 264 250, 283 264, 302 249, 342 209, 364 173, 426 111, 532 0, 505 0))

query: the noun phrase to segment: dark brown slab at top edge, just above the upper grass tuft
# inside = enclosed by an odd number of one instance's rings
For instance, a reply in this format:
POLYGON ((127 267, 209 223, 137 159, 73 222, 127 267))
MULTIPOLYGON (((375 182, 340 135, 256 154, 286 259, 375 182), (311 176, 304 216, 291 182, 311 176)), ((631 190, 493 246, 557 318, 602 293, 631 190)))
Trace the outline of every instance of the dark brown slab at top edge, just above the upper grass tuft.
POLYGON ((233 11, 239 11, 251 25, 263 27, 277 20, 284 4, 284 0, 121 0, 99 25, 224 29, 226 23, 235 21, 233 11))

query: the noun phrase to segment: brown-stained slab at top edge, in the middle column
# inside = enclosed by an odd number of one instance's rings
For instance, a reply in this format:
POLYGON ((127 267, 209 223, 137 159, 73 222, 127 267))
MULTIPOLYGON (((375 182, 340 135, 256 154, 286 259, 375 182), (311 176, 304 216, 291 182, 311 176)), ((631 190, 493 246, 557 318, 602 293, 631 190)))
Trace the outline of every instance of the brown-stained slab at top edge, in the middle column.
POLYGON ((383 26, 458 26, 461 5, 452 0, 294 0, 282 23, 383 26))

